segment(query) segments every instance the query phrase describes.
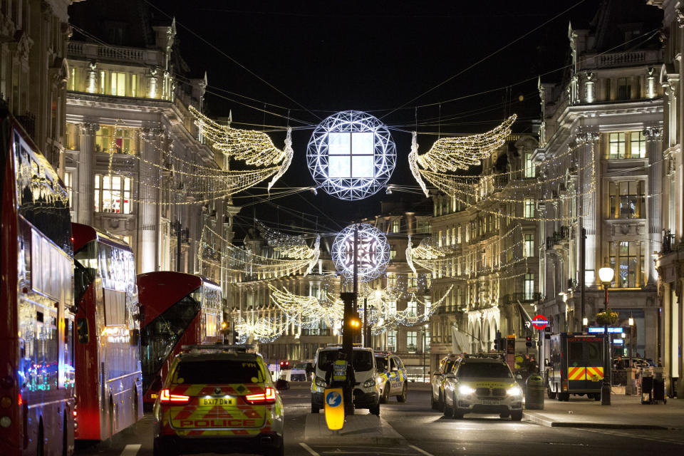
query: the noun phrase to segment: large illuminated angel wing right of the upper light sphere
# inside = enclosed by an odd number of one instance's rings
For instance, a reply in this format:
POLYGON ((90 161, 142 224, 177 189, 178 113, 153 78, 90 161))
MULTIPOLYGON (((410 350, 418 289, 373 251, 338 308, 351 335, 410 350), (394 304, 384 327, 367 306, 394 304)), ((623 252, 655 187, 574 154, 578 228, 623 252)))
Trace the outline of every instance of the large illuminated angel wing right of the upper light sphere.
MULTIPOLYGON (((473 165, 479 165, 482 159, 489 157, 492 151, 504 144, 507 136, 511 134, 511 125, 516 117, 512 115, 487 133, 440 138, 423 155, 418 155, 418 141, 414 133, 408 163, 413 177, 425 192, 425 197, 429 194, 421 177, 422 170, 418 165, 432 172, 468 170, 473 165)), ((430 180, 427 176, 426 178, 430 180)))

